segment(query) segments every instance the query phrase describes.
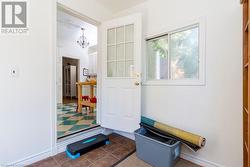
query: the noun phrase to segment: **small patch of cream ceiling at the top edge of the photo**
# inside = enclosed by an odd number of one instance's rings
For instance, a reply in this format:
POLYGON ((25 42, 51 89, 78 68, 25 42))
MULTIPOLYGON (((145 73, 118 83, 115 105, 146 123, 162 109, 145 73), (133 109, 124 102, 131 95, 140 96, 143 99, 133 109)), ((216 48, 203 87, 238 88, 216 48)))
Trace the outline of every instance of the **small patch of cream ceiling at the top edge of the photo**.
POLYGON ((104 7, 108 8, 112 12, 117 12, 119 10, 124 10, 147 0, 96 0, 104 7))

